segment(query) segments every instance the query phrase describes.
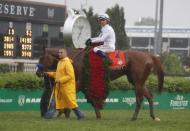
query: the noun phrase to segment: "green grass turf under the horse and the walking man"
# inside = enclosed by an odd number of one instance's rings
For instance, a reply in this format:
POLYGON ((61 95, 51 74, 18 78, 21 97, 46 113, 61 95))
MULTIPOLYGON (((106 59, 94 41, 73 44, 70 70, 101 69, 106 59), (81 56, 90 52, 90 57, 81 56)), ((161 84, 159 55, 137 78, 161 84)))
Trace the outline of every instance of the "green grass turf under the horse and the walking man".
POLYGON ((156 110, 160 122, 151 120, 148 110, 141 110, 137 121, 130 121, 132 110, 103 110, 102 119, 93 111, 84 111, 86 119, 42 119, 39 112, 0 112, 0 131, 188 131, 190 110, 156 110))

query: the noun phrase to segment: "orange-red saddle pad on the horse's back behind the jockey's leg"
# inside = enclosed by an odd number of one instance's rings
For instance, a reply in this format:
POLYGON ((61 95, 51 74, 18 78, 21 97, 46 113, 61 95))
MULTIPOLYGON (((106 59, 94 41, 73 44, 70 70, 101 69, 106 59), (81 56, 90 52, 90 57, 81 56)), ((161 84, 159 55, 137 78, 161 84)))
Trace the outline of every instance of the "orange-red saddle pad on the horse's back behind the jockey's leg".
POLYGON ((112 60, 112 64, 110 67, 121 67, 126 65, 126 59, 124 56, 124 51, 113 51, 113 52, 107 52, 107 56, 112 60))

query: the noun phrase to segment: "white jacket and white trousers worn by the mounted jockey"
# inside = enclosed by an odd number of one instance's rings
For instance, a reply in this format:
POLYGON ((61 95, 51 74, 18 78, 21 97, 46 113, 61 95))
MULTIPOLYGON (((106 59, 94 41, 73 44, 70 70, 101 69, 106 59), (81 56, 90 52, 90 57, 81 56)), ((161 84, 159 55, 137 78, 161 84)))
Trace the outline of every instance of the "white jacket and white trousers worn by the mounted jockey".
POLYGON ((115 32, 113 28, 106 24, 101 28, 101 33, 98 37, 91 38, 92 43, 103 42, 103 45, 95 47, 93 50, 97 52, 101 50, 103 52, 110 52, 115 50, 115 32))

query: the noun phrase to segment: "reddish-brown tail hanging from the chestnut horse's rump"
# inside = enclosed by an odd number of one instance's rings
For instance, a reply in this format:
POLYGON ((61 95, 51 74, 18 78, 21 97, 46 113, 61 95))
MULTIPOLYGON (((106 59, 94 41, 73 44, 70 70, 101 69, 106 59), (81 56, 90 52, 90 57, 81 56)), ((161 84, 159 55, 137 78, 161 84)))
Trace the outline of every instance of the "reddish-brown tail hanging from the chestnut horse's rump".
POLYGON ((154 63, 154 72, 157 74, 158 78, 158 91, 161 92, 163 89, 163 84, 164 84, 164 71, 163 67, 161 64, 161 61, 158 57, 152 56, 152 60, 154 63))

